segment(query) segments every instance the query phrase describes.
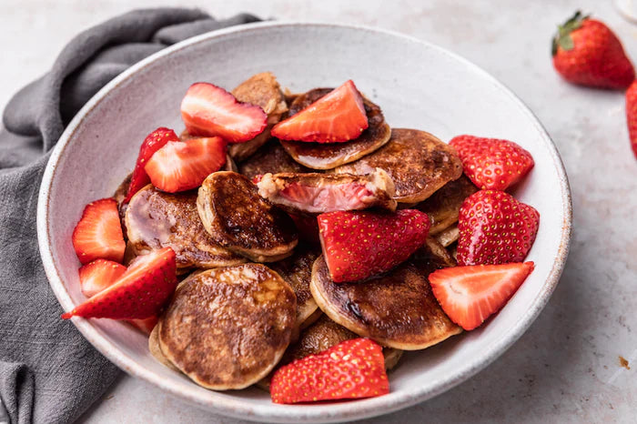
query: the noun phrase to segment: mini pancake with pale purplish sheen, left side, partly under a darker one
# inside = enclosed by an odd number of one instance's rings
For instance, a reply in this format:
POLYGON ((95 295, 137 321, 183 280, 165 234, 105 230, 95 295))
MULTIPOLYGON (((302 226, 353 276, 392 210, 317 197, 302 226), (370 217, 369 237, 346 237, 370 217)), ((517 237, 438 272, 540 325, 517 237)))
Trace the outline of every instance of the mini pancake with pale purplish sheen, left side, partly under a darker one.
POLYGON ((197 191, 170 194, 149 184, 131 197, 125 221, 133 254, 171 247, 180 270, 227 267, 246 261, 221 247, 206 232, 197 212, 197 191))

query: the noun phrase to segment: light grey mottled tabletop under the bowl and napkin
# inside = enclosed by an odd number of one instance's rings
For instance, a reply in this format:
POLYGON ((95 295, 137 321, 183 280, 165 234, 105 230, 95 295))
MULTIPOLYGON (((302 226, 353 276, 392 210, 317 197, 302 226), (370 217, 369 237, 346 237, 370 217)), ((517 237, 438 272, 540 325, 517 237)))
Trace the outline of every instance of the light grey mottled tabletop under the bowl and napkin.
MULTIPOLYGON (((561 283, 530 330, 477 376, 436 399, 370 422, 637 422, 637 160, 622 93, 569 86, 551 66, 551 35, 582 7, 637 60, 637 26, 611 0, 430 2, 321 0, 2 0, 0 106, 39 76, 76 32, 131 5, 200 5, 217 16, 339 21, 415 35, 469 58, 531 106, 571 179, 574 233, 561 283), (559 3, 559 4, 558 4, 559 3), (7 53, 8 52, 8 53, 7 53), (10 60, 7 60, 10 57, 10 60), (635 332, 633 332, 635 331, 635 332), (632 369, 622 368, 619 357, 632 369)), ((122 377, 82 419, 237 423, 122 377)))

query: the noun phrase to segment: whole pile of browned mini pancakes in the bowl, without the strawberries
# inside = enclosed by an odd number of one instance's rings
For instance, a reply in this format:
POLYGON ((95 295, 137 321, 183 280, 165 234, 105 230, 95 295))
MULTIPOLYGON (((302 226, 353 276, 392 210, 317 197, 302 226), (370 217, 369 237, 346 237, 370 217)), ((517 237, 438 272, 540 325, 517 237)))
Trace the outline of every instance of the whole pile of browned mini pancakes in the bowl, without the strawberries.
MULTIPOLYGON (((172 247, 184 278, 151 333, 150 351, 205 388, 264 387, 279 366, 358 337, 378 341, 393 368, 403 350, 460 333, 433 297, 428 276, 456 265, 450 252, 460 205, 477 188, 462 176, 452 147, 424 131, 391 129, 367 98, 369 128, 355 140, 270 138, 278 120, 330 90, 285 96, 270 73, 252 76, 232 93, 264 109, 264 133, 231 145, 227 167, 198 190, 168 194, 148 185, 120 207, 128 260, 172 247), (362 283, 335 284, 317 237, 299 241, 298 217, 311 227, 319 210, 290 215, 295 211, 259 196, 252 182, 266 174, 369 182, 378 179, 374 173, 389 176, 382 183, 389 197, 370 207, 420 209, 431 219, 430 237, 407 262, 362 283)), ((120 204, 126 187, 125 181, 116 193, 120 204)))

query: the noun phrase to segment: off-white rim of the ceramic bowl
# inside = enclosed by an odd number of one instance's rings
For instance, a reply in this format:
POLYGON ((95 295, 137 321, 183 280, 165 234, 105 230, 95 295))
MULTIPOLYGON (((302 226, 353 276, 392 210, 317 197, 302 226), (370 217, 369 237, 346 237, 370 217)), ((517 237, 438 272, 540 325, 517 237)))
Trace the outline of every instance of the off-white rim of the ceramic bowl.
POLYGON ((60 136, 45 167, 45 172, 40 186, 36 224, 38 246, 40 249, 40 256, 42 257, 42 262, 45 267, 46 277, 49 280, 50 286, 62 307, 65 310, 70 310, 75 306, 75 304, 64 286, 54 261, 53 249, 50 244, 51 238, 49 237, 51 227, 49 226, 48 205, 50 190, 54 178, 56 177, 56 166, 60 158, 64 156, 69 140, 74 136, 77 128, 82 125, 86 115, 88 115, 100 101, 108 96, 109 93, 116 88, 116 86, 119 86, 128 78, 135 76, 137 72, 141 71, 146 66, 149 66, 166 56, 170 56, 179 50, 188 48, 191 45, 207 42, 210 39, 221 38, 226 35, 236 35, 239 33, 249 33, 253 31, 267 31, 271 28, 294 26, 313 26, 367 31, 378 35, 387 35, 399 38, 405 43, 415 43, 424 48, 435 50, 441 55, 449 56, 450 58, 460 62, 463 66, 468 66, 473 72, 479 74, 487 81, 490 81, 490 83, 499 88, 504 95, 511 97, 511 100, 519 106, 521 112, 529 117, 541 135, 541 141, 547 147, 551 155, 553 166, 556 168, 557 175, 560 179, 561 203, 563 207, 562 213, 564 217, 561 227, 561 240, 558 255, 555 257, 549 277, 544 282, 541 292, 532 301, 531 307, 528 308, 520 318, 518 318, 509 331, 504 333, 496 343, 493 343, 490 346, 488 350, 485 350, 484 354, 479 359, 468 362, 466 365, 460 367, 458 372, 438 380, 437 384, 433 388, 418 388, 410 390, 409 392, 399 391, 389 393, 389 395, 379 398, 360 399, 352 402, 312 406, 277 405, 274 403, 271 405, 252 405, 244 399, 221 397, 214 391, 209 392, 209 394, 202 392, 194 386, 194 383, 189 381, 184 381, 184 384, 168 382, 168 380, 162 379, 160 375, 156 374, 151 369, 145 368, 137 363, 134 358, 128 356, 121 349, 116 348, 116 346, 108 341, 106 336, 98 328, 93 326, 90 320, 74 317, 72 318, 72 322, 83 336, 106 358, 115 363, 118 368, 125 370, 128 374, 136 378, 146 380, 179 399, 184 399, 207 409, 212 409, 220 414, 240 419, 266 419, 288 422, 298 422, 298 419, 304 419, 306 422, 334 422, 343 419, 364 419, 387 414, 398 409, 407 408, 423 400, 433 398, 440 393, 457 386, 466 379, 469 379, 482 368, 487 367, 493 360, 501 356, 501 354, 504 353, 506 349, 510 348, 511 345, 527 330, 527 328, 531 326, 531 323, 535 320, 535 318, 537 318, 541 309, 544 308, 549 298, 551 298, 551 293, 556 288, 560 280, 561 272, 568 256, 572 221, 571 188, 569 186, 568 177, 566 176, 557 147, 551 140, 551 136, 549 136, 546 129, 541 125, 540 120, 533 114, 531 109, 524 104, 520 97, 516 96, 507 86, 502 84, 494 76, 491 76, 480 66, 471 63, 462 56, 452 53, 438 45, 433 45, 414 36, 404 35, 396 31, 390 31, 369 25, 331 24, 313 21, 268 21, 247 25, 237 25, 197 35, 175 45, 168 46, 156 54, 148 56, 146 59, 130 66, 126 69, 126 71, 121 73, 119 76, 116 76, 113 80, 106 84, 106 86, 102 87, 102 89, 100 89, 96 95, 93 96, 79 112, 77 112, 76 116, 72 119, 69 125, 66 126, 64 133, 60 136))

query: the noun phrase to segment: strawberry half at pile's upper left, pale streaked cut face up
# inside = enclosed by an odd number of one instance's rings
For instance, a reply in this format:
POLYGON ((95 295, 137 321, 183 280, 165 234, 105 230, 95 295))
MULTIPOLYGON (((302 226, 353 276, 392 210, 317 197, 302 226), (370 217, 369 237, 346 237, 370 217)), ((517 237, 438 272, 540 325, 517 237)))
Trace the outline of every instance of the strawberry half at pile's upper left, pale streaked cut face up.
POLYGON ((181 102, 181 118, 193 136, 220 136, 228 143, 242 143, 262 133, 268 125, 263 109, 239 103, 221 87, 195 83, 181 102))

